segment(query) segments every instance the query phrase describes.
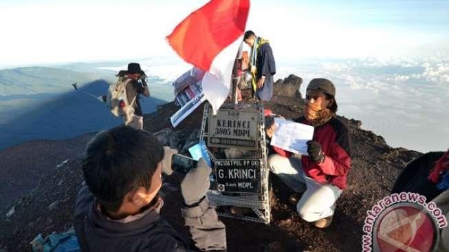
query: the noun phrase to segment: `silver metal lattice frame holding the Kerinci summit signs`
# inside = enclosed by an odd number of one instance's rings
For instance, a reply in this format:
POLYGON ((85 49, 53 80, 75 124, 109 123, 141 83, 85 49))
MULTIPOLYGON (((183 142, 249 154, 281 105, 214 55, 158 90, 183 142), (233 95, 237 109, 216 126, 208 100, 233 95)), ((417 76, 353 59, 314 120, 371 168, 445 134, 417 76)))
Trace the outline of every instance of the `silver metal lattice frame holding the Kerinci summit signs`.
MULTIPOLYGON (((267 149, 265 147, 265 116, 263 114, 263 105, 258 104, 223 104, 223 109, 239 109, 257 111, 259 116, 259 122, 257 131, 259 132, 258 143, 259 149, 257 152, 257 157, 254 159, 261 160, 261 191, 259 193, 223 193, 218 190, 210 189, 207 193, 208 198, 212 204, 215 206, 235 206, 235 207, 246 207, 252 209, 256 214, 256 217, 251 216, 235 216, 231 213, 225 213, 217 211, 219 216, 236 218, 240 220, 249 220, 252 222, 261 222, 264 224, 270 224, 270 195, 269 195, 269 185, 268 177, 270 175, 270 168, 267 166, 267 149)), ((203 120, 201 123, 201 133, 199 135, 199 140, 208 143, 208 120, 210 118, 210 105, 206 103, 204 106, 203 120)), ((211 155, 212 156, 212 155, 211 155)), ((250 159, 250 158, 245 158, 250 159)))

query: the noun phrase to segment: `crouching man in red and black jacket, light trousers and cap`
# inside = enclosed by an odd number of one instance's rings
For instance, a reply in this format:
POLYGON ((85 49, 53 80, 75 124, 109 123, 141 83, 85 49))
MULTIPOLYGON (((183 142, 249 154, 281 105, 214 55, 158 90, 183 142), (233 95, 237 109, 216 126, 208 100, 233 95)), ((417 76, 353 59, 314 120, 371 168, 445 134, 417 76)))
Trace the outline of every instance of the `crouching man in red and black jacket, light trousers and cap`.
MULTIPOLYGON (((314 138, 307 142, 308 156, 298 156, 274 147, 270 170, 296 193, 289 197, 296 210, 316 227, 329 227, 336 200, 347 187, 351 169, 351 136, 342 120, 336 118, 336 88, 325 78, 314 78, 307 86, 304 116, 295 120, 314 126, 314 138), (305 191, 304 191, 305 189, 305 191), (299 198, 299 194, 303 196, 299 198)), ((271 137, 275 125, 266 131, 271 137)))

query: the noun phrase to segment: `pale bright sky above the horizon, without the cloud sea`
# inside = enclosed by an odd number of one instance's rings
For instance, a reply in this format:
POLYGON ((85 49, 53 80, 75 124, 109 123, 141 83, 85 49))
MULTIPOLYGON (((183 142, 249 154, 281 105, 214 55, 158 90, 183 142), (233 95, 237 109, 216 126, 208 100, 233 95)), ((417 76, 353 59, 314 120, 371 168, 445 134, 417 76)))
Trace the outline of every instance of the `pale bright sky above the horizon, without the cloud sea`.
MULTIPOLYGON (((1 0, 0 67, 176 57, 165 37, 206 2, 1 0)), ((247 28, 283 61, 438 56, 449 54, 448 10, 449 1, 259 0, 247 28)))

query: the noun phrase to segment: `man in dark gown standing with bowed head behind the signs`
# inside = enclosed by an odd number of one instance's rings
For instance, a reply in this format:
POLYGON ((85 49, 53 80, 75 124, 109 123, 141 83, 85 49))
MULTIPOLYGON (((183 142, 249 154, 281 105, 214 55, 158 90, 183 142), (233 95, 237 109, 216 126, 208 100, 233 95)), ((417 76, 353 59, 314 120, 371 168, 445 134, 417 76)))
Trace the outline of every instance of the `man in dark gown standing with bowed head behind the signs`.
POLYGON ((259 101, 270 101, 273 96, 273 76, 276 74, 276 63, 270 43, 256 36, 252 30, 245 32, 243 41, 251 47, 250 65, 254 98, 259 101))

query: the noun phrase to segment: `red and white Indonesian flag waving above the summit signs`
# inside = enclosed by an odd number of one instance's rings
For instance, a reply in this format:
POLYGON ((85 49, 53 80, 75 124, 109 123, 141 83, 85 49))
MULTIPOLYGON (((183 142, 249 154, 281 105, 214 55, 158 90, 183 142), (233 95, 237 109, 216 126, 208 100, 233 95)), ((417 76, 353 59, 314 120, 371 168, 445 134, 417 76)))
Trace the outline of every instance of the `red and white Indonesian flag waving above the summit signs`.
POLYGON ((212 0, 188 15, 167 36, 184 61, 206 72, 203 92, 214 114, 228 97, 249 10, 250 0, 212 0))

